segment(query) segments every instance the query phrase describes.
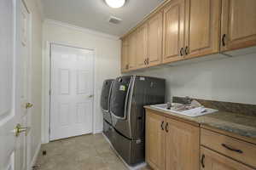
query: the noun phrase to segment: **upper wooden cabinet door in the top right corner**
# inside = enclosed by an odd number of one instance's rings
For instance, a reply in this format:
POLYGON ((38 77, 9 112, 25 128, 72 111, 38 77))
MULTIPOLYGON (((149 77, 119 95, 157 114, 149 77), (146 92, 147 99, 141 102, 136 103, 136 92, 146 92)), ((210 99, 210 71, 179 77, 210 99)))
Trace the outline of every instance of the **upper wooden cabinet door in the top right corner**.
POLYGON ((227 51, 256 45, 256 1, 223 0, 221 34, 227 51))

